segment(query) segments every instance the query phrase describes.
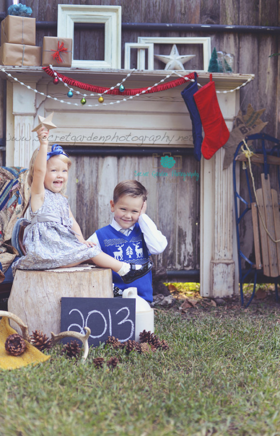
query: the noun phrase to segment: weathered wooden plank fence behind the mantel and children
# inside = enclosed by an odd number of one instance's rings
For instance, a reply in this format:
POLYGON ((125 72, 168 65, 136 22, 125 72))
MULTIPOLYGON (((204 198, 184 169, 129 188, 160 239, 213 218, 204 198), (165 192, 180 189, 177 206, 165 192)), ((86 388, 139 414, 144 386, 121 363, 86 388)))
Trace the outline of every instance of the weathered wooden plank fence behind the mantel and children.
MULTIPOLYGON (((0 11, 5 11, 6 1, 0 0, 0 11)), ((279 26, 280 25, 280 2, 278 0, 81 0, 63 1, 26 0, 25 4, 33 10, 33 17, 37 21, 57 20, 57 4, 90 4, 90 5, 120 5, 122 6, 123 23, 186 23, 186 24, 210 24, 210 25, 239 25, 239 26, 279 26)), ((42 46, 43 36, 56 36, 56 28, 50 27, 38 30, 36 45, 42 46)), ((280 57, 269 57, 273 53, 280 52, 279 32, 266 30, 255 31, 243 29, 239 31, 156 31, 151 28, 148 31, 122 31, 122 67, 124 65, 124 43, 137 42, 138 36, 173 36, 173 37, 200 37, 211 36, 211 47, 217 50, 232 53, 235 58, 236 73, 255 74, 255 79, 241 89, 240 108, 243 112, 251 103, 254 109, 265 108, 262 116, 263 121, 268 121, 265 132, 280 137, 279 113, 280 113, 280 57)), ((104 47, 102 30, 96 29, 94 33, 78 31, 75 35, 75 56, 83 59, 88 55, 94 59, 102 59, 104 47), (89 43, 90 41, 90 43, 89 43), (95 43, 93 44, 92 41, 95 43)), ((161 49, 169 54, 170 47, 161 49)), ((179 48, 180 54, 184 54, 184 47, 179 48), (182 51, 181 51, 182 50, 182 51)), ((164 64, 158 62, 155 68, 164 68, 164 64)), ((136 67, 136 56, 132 56, 131 67, 136 67)), ((196 69, 195 61, 188 62, 187 69, 196 69)), ((5 137, 5 81, 0 80, 0 138, 5 137)), ((100 218, 98 199, 119 180, 125 179, 125 174, 130 170, 144 168, 150 165, 145 157, 84 157, 77 156, 73 159, 73 170, 77 178, 82 179, 87 174, 85 184, 81 185, 83 191, 79 192, 76 187, 75 198, 72 207, 77 211, 77 219, 83 222, 82 230, 86 236, 100 225, 105 225, 109 219, 109 212, 104 212, 100 218), (110 176, 109 182, 105 180, 104 168, 114 168, 114 175, 110 176), (95 171, 96 169, 96 171, 95 171), (89 176, 89 177, 88 177, 89 176), (84 187, 86 186, 86 189, 84 187), (96 198, 96 191, 99 197, 96 198), (96 199, 92 208, 92 199, 96 199), (99 218, 98 218, 99 216, 99 218), (82 220, 82 221, 81 221, 82 220), (104 222, 103 222, 104 221, 104 222)), ((199 172, 200 165, 193 156, 184 156, 184 171, 199 172)), ((4 154, 0 156, 0 164, 4 164, 4 154)), ((258 173, 256 172, 258 175, 258 173)), ((131 177, 129 177, 131 178, 131 177)), ((139 179, 143 182, 143 179, 139 179)), ((241 174, 241 186, 244 175, 241 174)), ((143 182, 144 183, 144 182, 143 182)), ((73 185, 73 184, 72 184, 73 185)), ((74 189, 74 185, 71 187, 74 189)), ((189 184, 188 184, 189 185, 189 184)), ((260 178, 256 176, 256 187, 260 185, 260 178)), ((186 186, 186 184, 184 185, 186 186)), ((174 187, 148 186, 150 191, 151 217, 156 220, 159 228, 169 239, 169 247, 158 259, 158 267, 164 266, 169 270, 196 270, 199 268, 199 182, 189 185, 185 191, 180 184, 174 187), (183 192, 183 193, 182 193, 183 192), (191 224, 190 224, 191 222, 191 224)), ((245 194, 244 194, 245 195, 245 194)), ((252 234, 249 220, 245 220, 241 232, 241 242, 246 245, 246 254, 252 253, 252 234)))

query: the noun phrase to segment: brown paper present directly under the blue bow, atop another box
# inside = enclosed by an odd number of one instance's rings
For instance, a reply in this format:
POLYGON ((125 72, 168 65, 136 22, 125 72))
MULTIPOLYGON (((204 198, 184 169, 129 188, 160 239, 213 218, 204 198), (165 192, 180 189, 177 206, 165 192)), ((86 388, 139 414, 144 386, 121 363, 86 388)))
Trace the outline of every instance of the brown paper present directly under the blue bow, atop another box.
POLYGON ((1 45, 4 43, 35 46, 36 19, 26 16, 6 16, 1 23, 1 45))

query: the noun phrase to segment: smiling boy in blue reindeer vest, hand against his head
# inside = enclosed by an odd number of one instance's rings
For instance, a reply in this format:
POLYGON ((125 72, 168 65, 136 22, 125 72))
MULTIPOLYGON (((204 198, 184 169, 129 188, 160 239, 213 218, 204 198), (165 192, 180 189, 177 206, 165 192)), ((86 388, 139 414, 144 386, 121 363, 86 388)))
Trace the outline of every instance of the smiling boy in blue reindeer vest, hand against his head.
MULTIPOLYGON (((125 180, 114 189, 110 201, 112 222, 97 230, 90 238, 110 256, 124 262, 143 265, 150 254, 159 254, 167 246, 166 237, 156 228, 156 224, 146 215, 147 190, 137 180, 125 180)), ((114 286, 127 288, 118 274, 113 273, 114 286)), ((153 301, 152 272, 134 280, 129 286, 137 288, 138 295, 153 301)))

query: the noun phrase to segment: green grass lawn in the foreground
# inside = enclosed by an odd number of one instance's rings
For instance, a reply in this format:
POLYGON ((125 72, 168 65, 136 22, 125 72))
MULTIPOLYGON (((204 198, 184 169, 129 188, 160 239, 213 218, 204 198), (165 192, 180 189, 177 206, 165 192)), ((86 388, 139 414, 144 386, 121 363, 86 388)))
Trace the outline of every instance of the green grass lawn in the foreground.
POLYGON ((1 371, 0 435, 280 435, 279 317, 157 310, 169 351, 100 346, 82 364, 54 349, 44 364, 1 371), (112 355, 114 371, 94 368, 112 355))

